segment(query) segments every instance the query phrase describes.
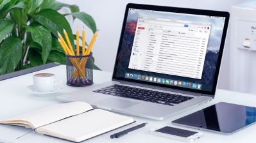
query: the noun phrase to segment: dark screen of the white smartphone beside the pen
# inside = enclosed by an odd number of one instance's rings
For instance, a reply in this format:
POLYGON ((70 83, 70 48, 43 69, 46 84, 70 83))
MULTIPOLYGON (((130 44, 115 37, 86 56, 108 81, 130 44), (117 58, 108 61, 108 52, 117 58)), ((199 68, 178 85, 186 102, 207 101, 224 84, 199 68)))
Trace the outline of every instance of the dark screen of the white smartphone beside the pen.
POLYGON ((169 135, 176 135, 179 137, 189 137, 189 136, 197 133, 197 132, 192 132, 192 131, 188 131, 188 130, 182 130, 180 128, 173 128, 171 126, 165 126, 164 128, 155 130, 155 132, 167 133, 169 135))

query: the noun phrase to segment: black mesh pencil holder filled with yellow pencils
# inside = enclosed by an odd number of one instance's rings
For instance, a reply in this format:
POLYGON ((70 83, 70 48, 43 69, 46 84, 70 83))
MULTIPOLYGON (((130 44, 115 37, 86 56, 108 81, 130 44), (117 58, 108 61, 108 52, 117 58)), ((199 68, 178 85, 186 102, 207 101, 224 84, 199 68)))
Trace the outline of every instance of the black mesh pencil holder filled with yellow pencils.
POLYGON ((92 53, 87 56, 66 56, 67 85, 90 86, 93 84, 92 53))

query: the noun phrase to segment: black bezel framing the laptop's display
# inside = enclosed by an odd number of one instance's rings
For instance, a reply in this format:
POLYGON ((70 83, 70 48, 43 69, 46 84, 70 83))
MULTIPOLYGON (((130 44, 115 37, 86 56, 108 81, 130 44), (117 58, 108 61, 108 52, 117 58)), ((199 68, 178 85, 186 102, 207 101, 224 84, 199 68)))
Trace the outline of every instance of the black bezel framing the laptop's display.
POLYGON ((229 21, 230 14, 226 11, 212 11, 212 10, 197 10, 197 9, 191 9, 191 8, 175 8, 175 7, 168 7, 168 6, 154 6, 154 5, 146 5, 146 4, 133 4, 129 3, 126 6, 125 14, 124 14, 124 20, 123 20, 123 26, 122 26, 122 31, 121 31, 121 36, 119 40, 119 45, 118 45, 118 50, 117 50, 117 55, 115 57, 115 66, 114 66, 114 72, 112 75, 112 80, 118 80, 118 81, 126 81, 126 82, 136 82, 139 84, 146 84, 146 85, 151 85, 151 86, 158 86, 158 87, 166 87, 169 89, 178 89, 181 91, 189 91, 193 93, 202 93, 202 94, 209 94, 211 96, 214 96, 215 91, 216 91, 216 86, 218 82, 218 76, 219 76, 219 68, 221 65, 221 59, 223 55, 223 49, 225 45, 225 39, 226 39, 226 32, 228 29, 228 21, 229 21), (130 8, 134 9, 141 9, 141 10, 153 10, 153 11, 166 11, 166 12, 173 12, 173 13, 187 13, 187 14, 194 14, 194 15, 208 15, 208 16, 214 16, 214 17, 225 17, 225 24, 223 27, 223 34, 221 38, 221 45, 219 48, 219 56, 218 56, 218 61, 216 65, 216 72, 214 75, 214 83, 212 85, 212 91, 202 91, 198 89, 190 89, 190 88, 185 88, 185 87, 178 87, 178 86, 170 86, 170 85, 165 85, 165 84, 158 84, 155 82, 146 82, 142 80, 135 80, 135 79, 126 79, 124 77, 117 77, 116 72, 117 72, 117 64, 118 64, 118 56, 119 53, 121 52, 121 45, 123 41, 123 35, 125 31, 125 26, 126 26, 126 19, 128 17, 128 11, 130 8))

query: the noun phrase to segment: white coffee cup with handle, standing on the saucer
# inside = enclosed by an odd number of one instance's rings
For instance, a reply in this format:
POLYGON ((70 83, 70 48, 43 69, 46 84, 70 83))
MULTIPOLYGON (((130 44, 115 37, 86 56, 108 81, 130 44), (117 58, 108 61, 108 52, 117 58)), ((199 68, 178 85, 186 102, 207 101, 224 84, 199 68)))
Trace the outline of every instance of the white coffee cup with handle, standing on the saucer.
POLYGON ((37 92, 49 93, 61 87, 62 80, 52 73, 38 73, 33 75, 33 86, 37 92))

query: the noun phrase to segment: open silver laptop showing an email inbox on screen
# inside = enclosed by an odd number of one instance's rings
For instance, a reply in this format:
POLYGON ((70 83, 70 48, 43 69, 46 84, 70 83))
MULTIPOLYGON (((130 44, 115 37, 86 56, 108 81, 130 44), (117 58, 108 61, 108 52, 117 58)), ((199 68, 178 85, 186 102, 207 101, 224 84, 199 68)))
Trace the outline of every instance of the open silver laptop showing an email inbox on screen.
POLYGON ((229 13, 128 4, 112 80, 57 96, 162 120, 214 98, 229 13))

